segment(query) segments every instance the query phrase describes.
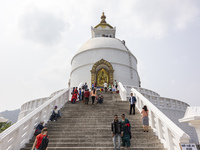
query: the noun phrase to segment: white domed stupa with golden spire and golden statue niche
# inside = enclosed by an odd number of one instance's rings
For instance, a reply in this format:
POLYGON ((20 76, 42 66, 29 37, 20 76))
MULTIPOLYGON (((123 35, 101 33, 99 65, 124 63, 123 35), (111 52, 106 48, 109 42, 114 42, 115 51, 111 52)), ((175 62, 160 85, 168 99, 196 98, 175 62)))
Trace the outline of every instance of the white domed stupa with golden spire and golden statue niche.
POLYGON ((125 42, 115 38, 116 28, 106 23, 104 13, 101 22, 91 27, 92 38, 85 42, 71 61, 69 87, 87 82, 89 87, 96 83, 114 80, 126 85, 140 86, 137 59, 125 46, 125 42))

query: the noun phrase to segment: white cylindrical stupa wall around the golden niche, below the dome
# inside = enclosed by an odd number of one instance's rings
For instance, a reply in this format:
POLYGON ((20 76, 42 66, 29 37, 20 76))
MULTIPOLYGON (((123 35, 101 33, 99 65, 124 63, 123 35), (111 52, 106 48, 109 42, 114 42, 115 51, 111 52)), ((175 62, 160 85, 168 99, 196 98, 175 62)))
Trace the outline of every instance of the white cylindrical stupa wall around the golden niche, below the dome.
POLYGON ((78 86, 80 82, 87 82, 90 86, 92 66, 101 59, 112 64, 114 80, 116 79, 123 84, 139 86, 136 58, 131 55, 132 67, 130 67, 128 51, 112 48, 92 49, 75 55, 72 60, 70 86, 78 86), (133 79, 131 79, 130 71, 132 71, 133 79))

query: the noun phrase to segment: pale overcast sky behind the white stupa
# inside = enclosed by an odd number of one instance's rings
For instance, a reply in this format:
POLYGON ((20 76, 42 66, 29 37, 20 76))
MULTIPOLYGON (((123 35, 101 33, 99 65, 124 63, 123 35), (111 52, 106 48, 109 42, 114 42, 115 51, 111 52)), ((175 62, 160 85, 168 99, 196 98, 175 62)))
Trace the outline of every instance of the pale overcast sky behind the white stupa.
POLYGON ((0 111, 66 88, 102 12, 138 59, 142 87, 200 105, 199 0, 0 1, 0 111))

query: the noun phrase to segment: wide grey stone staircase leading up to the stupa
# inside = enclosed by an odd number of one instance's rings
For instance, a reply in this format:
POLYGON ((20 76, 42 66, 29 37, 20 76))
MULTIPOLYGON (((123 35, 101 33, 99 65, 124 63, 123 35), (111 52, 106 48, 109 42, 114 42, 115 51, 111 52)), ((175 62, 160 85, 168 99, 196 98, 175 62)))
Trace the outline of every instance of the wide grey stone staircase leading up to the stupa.
MULTIPOLYGON (((143 132, 142 119, 136 109, 136 115, 129 114, 129 103, 120 101, 118 94, 104 95, 104 103, 84 106, 82 102, 71 104, 67 102, 61 109, 62 118, 57 122, 48 122, 48 150, 113 150, 111 138, 111 122, 115 114, 121 119, 124 113, 131 123, 131 149, 134 150, 164 150, 163 145, 153 131, 143 132)), ((35 137, 25 148, 30 150, 35 137)))

